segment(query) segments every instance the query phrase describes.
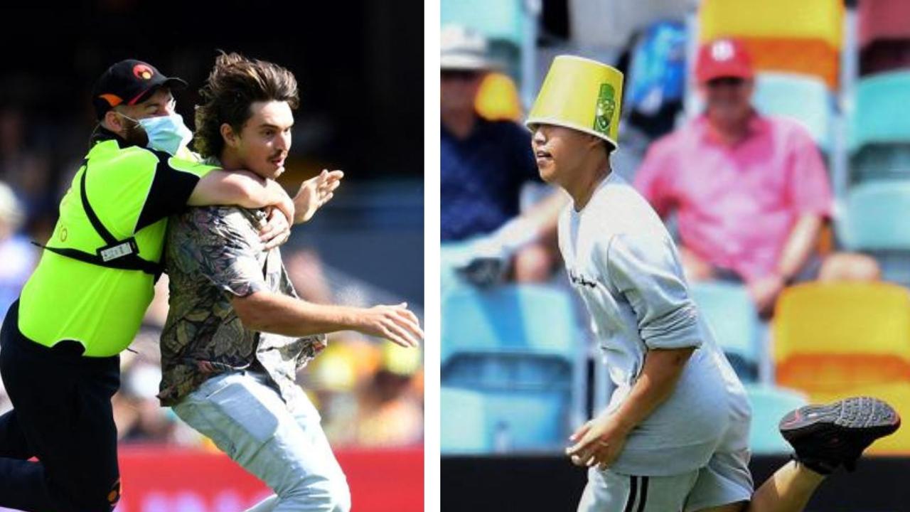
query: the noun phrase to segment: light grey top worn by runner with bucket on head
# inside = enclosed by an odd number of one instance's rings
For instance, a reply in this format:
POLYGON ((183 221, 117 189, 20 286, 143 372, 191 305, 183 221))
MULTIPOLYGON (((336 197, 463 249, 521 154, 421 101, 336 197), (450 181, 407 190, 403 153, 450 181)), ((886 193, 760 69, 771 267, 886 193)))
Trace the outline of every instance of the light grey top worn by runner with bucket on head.
POLYGON ((705 466, 718 450, 747 449, 751 415, 743 385, 695 307, 672 238, 651 206, 611 174, 581 211, 559 225, 572 287, 591 313, 622 404, 652 349, 695 347, 672 395, 629 435, 612 470, 677 475, 705 466))

